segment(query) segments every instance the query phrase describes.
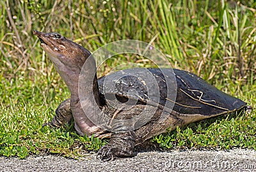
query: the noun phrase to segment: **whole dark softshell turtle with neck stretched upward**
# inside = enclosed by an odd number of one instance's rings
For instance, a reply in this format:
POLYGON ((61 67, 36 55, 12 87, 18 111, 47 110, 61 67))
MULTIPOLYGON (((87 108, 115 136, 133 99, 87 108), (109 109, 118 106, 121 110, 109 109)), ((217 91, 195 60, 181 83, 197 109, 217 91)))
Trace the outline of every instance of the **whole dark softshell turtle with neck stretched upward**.
MULTIPOLYGON (((115 89, 108 89, 108 83, 110 84, 111 82, 107 82, 107 85, 104 85, 106 76, 97 80, 95 61, 91 58, 92 56, 90 56, 91 54, 88 50, 56 32, 34 31, 33 34, 40 39, 41 47, 49 55, 54 67, 67 84, 71 93, 70 99, 63 101, 58 106, 56 116, 53 117, 52 121, 44 125, 60 127, 71 118, 74 118, 77 133, 88 136, 93 134, 94 137, 99 138, 110 136, 109 143, 100 148, 98 152, 100 159, 103 161, 113 160, 115 157, 133 157, 135 145, 152 136, 166 132, 166 129, 173 130, 177 126, 239 111, 246 107, 246 103, 240 99, 221 92, 193 73, 179 69, 174 69, 174 73, 170 72, 177 85, 175 102, 167 99, 168 84, 166 84, 166 77, 163 75, 165 71, 170 69, 147 69, 152 73, 159 86, 158 101, 148 98, 149 92, 144 87, 147 85, 140 78, 126 75, 119 78, 119 80, 111 80, 111 77, 115 78, 118 72, 108 75, 110 81, 116 85, 115 89), (90 68, 84 69, 83 64, 88 61, 90 62, 90 68), (83 89, 83 94, 85 95, 83 102, 79 97, 79 88, 81 87, 79 85, 79 75, 81 75, 82 68, 84 69, 82 87, 85 88, 83 89), (136 96, 129 90, 136 90, 136 96), (136 103, 133 104, 132 108, 127 110, 116 109, 109 105, 106 99, 107 94, 114 94, 121 104, 127 102, 127 99, 133 99, 133 97, 138 97, 138 99, 136 99, 136 103), (164 110, 165 105, 170 102, 173 107, 167 107, 164 110), (102 129, 102 127, 90 120, 91 117, 106 117, 104 115, 110 117, 111 122, 113 119, 126 120, 138 115, 142 115, 142 118, 147 118, 147 114, 152 111, 154 111, 153 116, 145 124, 134 128, 134 130, 124 130, 123 132, 116 132, 112 125, 113 128, 111 129, 110 126, 110 131, 106 128, 102 129), (165 115, 161 120, 163 112, 168 115, 165 115)), ((126 69, 122 72, 126 73, 131 70, 135 73, 140 73, 143 69, 126 69)), ((102 118, 98 119, 102 120, 102 118)), ((120 125, 118 127, 122 128, 120 125)))

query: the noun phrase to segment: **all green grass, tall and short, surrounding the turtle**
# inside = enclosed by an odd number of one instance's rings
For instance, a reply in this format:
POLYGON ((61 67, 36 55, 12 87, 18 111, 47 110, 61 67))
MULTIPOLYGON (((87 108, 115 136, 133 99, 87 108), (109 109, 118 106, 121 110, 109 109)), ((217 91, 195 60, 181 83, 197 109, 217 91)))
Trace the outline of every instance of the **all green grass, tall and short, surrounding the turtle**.
MULTIPOLYGON (((72 125, 52 130, 58 104, 70 95, 38 39, 56 31, 93 52, 120 39, 152 42, 173 68, 186 69, 256 108, 256 3, 239 1, 1 1, 0 155, 58 153, 78 157, 106 140, 78 136, 72 125), (11 8, 15 6, 17 8, 11 8), (10 7, 10 8, 9 8, 10 7)), ((98 71, 104 75, 119 55, 98 71)), ((143 66, 148 66, 143 61, 143 66)), ((163 148, 255 148, 256 113, 204 120, 152 138, 163 148)))

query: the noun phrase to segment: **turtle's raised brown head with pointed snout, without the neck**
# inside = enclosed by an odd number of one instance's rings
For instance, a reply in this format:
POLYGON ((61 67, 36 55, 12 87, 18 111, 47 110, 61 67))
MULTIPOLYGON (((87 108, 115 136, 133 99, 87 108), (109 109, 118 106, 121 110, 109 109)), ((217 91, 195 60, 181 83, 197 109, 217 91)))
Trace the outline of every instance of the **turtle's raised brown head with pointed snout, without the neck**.
POLYGON ((91 55, 88 50, 59 33, 33 31, 33 34, 40 39, 41 47, 49 55, 58 71, 61 68, 72 69, 72 71, 81 69, 91 55))

